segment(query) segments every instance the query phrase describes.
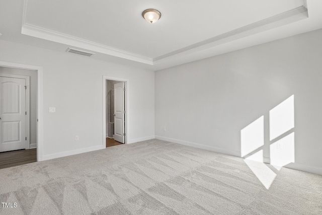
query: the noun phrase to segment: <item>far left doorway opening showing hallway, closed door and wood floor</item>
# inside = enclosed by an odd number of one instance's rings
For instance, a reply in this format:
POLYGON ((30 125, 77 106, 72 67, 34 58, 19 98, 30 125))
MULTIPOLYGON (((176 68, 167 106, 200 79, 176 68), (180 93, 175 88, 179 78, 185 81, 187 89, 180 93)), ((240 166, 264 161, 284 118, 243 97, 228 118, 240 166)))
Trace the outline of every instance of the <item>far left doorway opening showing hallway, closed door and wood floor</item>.
POLYGON ((37 73, 0 66, 0 168, 37 161, 37 73))

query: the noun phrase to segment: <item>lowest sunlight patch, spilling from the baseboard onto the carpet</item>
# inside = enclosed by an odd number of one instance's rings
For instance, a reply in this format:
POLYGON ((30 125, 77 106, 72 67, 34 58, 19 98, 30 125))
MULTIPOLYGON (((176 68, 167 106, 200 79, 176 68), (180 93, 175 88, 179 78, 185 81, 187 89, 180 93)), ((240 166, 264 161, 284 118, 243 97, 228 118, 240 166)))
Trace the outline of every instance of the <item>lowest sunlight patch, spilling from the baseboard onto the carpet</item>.
POLYGON ((269 189, 276 177, 276 173, 263 163, 263 157, 263 150, 260 150, 246 158, 244 162, 261 181, 265 188, 269 189))

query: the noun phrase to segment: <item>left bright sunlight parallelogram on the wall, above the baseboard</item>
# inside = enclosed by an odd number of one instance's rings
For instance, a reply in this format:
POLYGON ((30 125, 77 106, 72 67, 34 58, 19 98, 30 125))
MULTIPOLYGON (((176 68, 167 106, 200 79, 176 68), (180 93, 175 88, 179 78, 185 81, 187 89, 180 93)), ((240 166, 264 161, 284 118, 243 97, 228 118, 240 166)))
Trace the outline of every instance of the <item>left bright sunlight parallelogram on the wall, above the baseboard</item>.
POLYGON ((250 154, 261 146, 264 146, 264 116, 261 116, 245 128, 241 129, 241 157, 250 154))

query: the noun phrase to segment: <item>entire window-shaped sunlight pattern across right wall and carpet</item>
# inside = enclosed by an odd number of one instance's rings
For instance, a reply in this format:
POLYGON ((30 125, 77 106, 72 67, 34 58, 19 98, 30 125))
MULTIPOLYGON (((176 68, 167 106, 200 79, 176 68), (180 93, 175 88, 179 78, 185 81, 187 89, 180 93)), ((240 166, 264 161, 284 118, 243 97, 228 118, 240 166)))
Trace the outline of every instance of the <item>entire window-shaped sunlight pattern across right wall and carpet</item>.
MULTIPOLYGON (((294 95, 290 96, 282 103, 274 107, 269 112, 270 140, 274 143, 270 145, 270 164, 277 170, 287 164, 295 162, 295 138, 294 132, 281 138, 294 128, 294 95), (279 139, 276 139, 279 138, 279 139)), ((256 177, 269 189, 273 183, 276 173, 264 164, 264 116, 261 116, 245 128, 240 130, 240 154, 256 177)))

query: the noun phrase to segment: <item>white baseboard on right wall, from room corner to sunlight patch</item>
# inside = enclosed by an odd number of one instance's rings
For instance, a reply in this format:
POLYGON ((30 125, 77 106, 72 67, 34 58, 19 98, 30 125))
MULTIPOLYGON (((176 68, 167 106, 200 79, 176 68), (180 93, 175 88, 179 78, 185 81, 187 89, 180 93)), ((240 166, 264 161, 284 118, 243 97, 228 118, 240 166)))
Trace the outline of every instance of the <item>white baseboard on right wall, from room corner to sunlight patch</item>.
POLYGON ((185 145, 185 146, 189 146, 189 147, 195 147, 195 148, 198 148, 198 149, 209 150, 209 151, 212 151, 212 152, 217 152, 217 153, 222 153, 222 154, 226 154, 226 155, 232 155, 232 156, 240 157, 240 152, 237 152, 237 151, 232 151, 232 150, 226 150, 226 149, 217 148, 217 147, 206 146, 206 145, 202 145, 202 144, 197 144, 196 142, 189 142, 189 141, 186 141, 186 140, 174 139, 174 138, 169 138, 169 137, 164 137, 164 136, 157 136, 156 135, 155 138, 160 139, 160 140, 169 141, 169 142, 174 142, 175 144, 181 144, 181 145, 185 145))

